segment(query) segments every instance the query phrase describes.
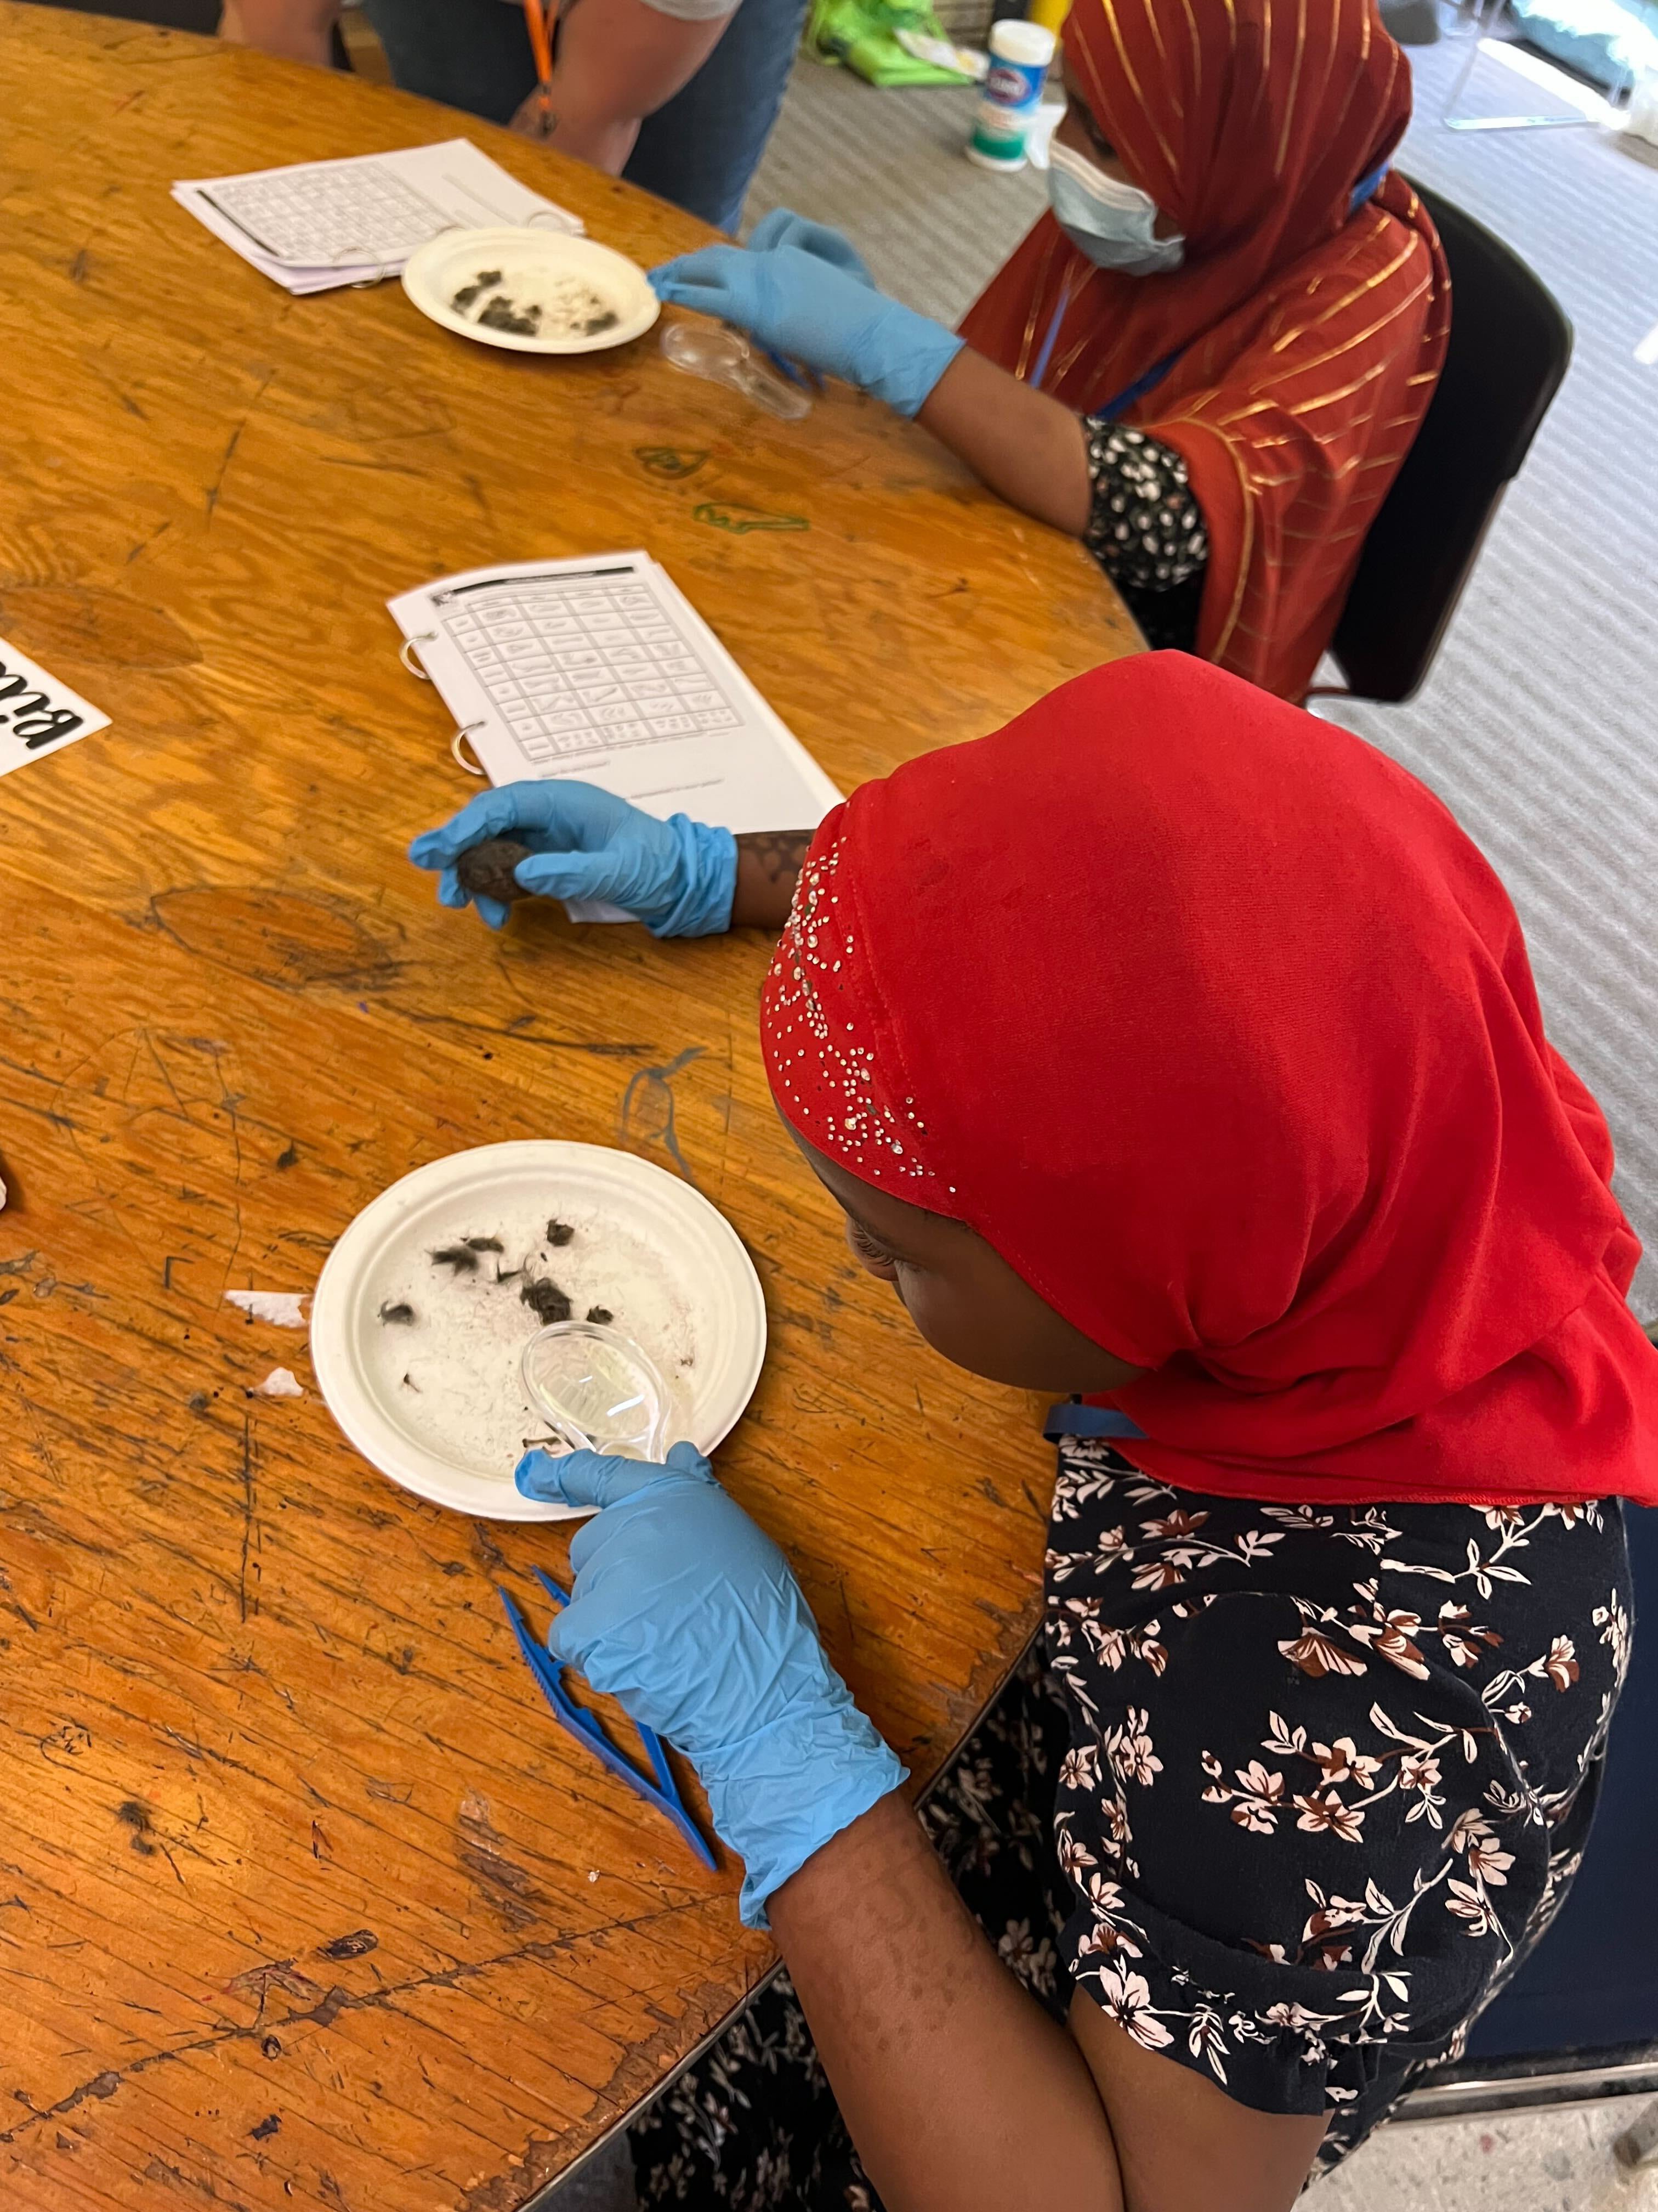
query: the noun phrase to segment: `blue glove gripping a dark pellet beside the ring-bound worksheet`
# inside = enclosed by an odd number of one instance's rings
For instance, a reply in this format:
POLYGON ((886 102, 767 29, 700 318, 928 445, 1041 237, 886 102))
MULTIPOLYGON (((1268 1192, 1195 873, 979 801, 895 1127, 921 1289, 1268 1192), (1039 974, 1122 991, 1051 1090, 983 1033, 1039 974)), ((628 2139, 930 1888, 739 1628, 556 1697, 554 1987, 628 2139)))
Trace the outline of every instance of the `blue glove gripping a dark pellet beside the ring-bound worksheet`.
POLYGON ((506 920, 497 898, 473 898, 455 860, 469 845, 511 836, 531 847, 513 869, 526 891, 546 898, 608 900, 659 938, 707 938, 732 927, 736 838, 688 814, 659 823, 592 783, 502 783, 480 792, 442 830, 409 845, 416 867, 442 869, 444 907, 475 905, 491 929, 506 920))

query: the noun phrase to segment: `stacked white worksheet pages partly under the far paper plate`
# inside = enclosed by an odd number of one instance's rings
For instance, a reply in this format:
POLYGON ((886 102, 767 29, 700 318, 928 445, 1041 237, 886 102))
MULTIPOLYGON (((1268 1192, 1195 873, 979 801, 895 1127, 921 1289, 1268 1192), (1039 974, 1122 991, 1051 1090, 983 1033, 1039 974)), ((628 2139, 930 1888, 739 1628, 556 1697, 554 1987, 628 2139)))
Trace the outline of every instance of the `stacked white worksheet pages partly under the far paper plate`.
POLYGON ((440 230, 581 230, 579 217, 508 177, 471 139, 195 177, 175 184, 172 197, 290 292, 396 276, 440 230))

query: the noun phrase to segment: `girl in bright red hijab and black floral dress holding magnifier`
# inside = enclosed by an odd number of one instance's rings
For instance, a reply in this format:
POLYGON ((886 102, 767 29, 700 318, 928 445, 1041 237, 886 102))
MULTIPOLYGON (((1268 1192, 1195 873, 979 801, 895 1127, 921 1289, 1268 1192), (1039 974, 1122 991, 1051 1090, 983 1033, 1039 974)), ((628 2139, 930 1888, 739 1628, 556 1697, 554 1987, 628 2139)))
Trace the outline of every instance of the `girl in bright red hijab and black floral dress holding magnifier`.
MULTIPOLYGON (((776 922, 807 843, 522 783, 413 856, 458 905, 502 834, 659 936, 776 922)), ((727 2037, 637 2130, 641 2194, 1284 2212, 1556 1911, 1629 1655, 1618 1498, 1658 1502, 1638 1245, 1514 909, 1384 754, 1145 655, 825 818, 760 1046, 935 1352, 1083 1402, 1052 1672, 931 1809, 962 1896, 690 1444, 520 1464, 599 1509, 557 1655, 692 1761, 811 2031, 774 1997, 727 2037)))

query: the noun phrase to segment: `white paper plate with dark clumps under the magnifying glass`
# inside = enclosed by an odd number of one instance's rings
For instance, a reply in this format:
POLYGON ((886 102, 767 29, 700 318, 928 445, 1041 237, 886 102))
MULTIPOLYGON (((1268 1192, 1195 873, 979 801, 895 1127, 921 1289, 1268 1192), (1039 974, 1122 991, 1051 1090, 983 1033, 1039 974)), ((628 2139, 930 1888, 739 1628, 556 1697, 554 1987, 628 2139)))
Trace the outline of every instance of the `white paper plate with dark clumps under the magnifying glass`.
POLYGON ((380 1473, 482 1520, 570 1517, 513 1489, 524 1442, 546 1433, 517 1371, 542 1327, 522 1267, 555 1281, 577 1318, 599 1305, 637 1336, 674 1391, 674 1436, 712 1451, 736 1425, 765 1360, 765 1298, 732 1223, 632 1152, 484 1144, 382 1190, 316 1283, 316 1383, 380 1473), (573 1230, 562 1245, 553 1221, 573 1230), (433 1259, 455 1250, 475 1267, 433 1259))

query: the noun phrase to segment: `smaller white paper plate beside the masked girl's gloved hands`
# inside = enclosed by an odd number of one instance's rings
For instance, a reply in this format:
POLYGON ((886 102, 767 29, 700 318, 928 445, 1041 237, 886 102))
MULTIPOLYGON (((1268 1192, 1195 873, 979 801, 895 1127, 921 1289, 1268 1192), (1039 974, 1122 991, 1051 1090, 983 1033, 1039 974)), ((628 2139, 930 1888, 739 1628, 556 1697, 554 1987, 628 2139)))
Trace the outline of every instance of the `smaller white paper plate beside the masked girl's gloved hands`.
POLYGON ((402 290, 433 323, 460 332, 462 338, 478 338, 480 345, 502 345, 508 354, 601 354, 608 345, 643 336, 661 314, 661 301, 637 261, 592 239, 535 228, 440 230, 409 254, 402 290), (471 301, 471 312, 455 307, 455 294, 491 274, 497 281, 471 301), (548 327, 546 316, 557 305, 557 288, 573 279, 597 292, 617 321, 590 334, 548 327), (526 336, 478 323, 478 310, 495 294, 515 305, 539 305, 542 332, 526 336))

